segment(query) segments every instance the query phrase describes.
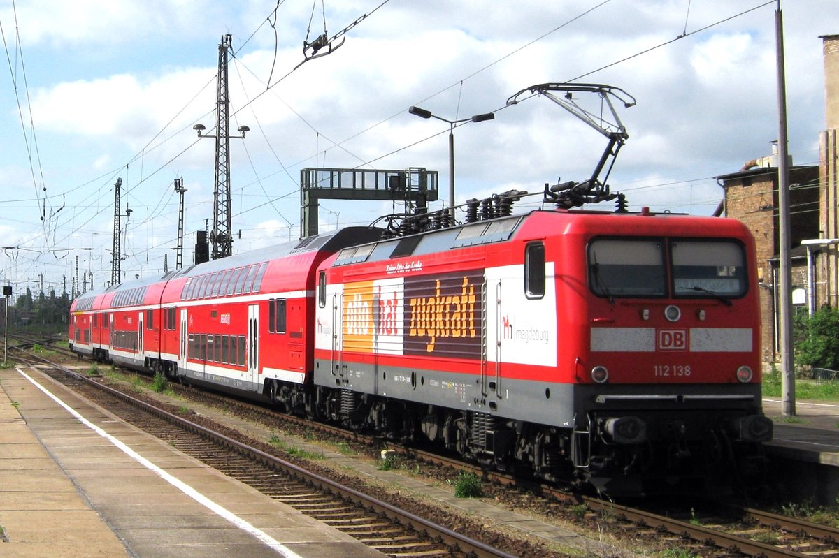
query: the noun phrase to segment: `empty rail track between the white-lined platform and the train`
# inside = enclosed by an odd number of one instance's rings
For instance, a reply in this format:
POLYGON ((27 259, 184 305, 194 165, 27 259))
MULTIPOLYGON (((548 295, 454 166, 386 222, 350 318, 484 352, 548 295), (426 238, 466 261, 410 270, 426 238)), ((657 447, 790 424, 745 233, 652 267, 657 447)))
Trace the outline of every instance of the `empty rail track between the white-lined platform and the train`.
MULTIPOLYGON (((18 349, 21 350, 21 349, 18 349)), ((18 357, 18 360, 24 360, 18 357)), ((28 353, 30 364, 43 359, 28 353)), ((80 391, 123 420, 169 442, 181 452, 247 483, 294 509, 392 556, 512 558, 514 555, 456 530, 301 468, 258 447, 189 421, 80 375, 60 364, 42 371, 80 391)))

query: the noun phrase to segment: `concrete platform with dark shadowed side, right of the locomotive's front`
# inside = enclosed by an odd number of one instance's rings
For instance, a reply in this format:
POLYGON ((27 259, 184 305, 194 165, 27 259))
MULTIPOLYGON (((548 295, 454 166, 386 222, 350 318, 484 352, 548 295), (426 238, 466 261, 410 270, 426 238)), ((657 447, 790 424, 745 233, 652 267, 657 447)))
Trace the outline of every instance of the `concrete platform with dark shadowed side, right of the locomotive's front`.
POLYGON ((784 497, 833 505, 839 498, 839 404, 795 401, 795 416, 784 416, 780 400, 764 399, 763 413, 774 421, 774 439, 765 445, 769 475, 784 497))

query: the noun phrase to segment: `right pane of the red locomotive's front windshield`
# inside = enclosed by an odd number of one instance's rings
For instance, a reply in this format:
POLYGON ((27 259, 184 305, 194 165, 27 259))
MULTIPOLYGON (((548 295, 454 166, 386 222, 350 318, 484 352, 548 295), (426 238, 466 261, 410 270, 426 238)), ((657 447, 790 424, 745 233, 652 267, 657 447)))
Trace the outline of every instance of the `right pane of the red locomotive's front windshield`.
POLYGON ((746 256, 733 240, 674 240, 673 287, 677 297, 740 297, 745 294, 746 256))

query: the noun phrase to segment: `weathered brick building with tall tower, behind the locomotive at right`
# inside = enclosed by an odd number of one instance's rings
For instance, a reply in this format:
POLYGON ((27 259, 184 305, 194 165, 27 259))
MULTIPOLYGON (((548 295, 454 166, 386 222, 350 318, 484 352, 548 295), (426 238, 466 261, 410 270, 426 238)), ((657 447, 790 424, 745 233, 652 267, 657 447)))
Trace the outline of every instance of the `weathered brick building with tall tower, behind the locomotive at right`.
MULTIPOLYGON (((839 307, 839 35, 821 37, 825 65, 826 130, 820 134, 818 166, 789 165, 789 229, 792 302, 795 312, 829 304, 839 307), (801 241, 805 244, 802 245, 801 241)), ((777 154, 749 161, 737 173, 717 177, 725 210, 742 220, 757 244, 762 352, 779 360, 779 219, 777 154)))

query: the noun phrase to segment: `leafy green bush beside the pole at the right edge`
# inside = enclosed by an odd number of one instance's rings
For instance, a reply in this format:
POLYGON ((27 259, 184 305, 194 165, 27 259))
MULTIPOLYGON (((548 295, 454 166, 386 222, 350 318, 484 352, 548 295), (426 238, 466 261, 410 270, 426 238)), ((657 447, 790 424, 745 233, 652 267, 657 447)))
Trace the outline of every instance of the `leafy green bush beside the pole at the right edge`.
POLYGON ((795 316, 795 362, 839 369, 839 310, 822 308, 795 316))

